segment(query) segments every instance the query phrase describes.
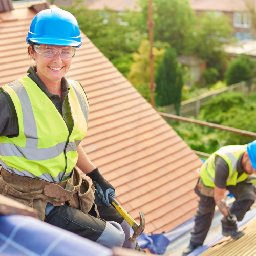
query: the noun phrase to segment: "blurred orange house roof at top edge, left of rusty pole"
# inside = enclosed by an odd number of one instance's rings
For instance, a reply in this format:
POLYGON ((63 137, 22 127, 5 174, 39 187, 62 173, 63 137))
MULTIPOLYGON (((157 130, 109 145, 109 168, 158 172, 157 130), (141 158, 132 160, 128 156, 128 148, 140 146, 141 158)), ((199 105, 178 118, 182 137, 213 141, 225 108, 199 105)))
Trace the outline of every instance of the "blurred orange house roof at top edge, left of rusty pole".
POLYGON ((90 10, 104 10, 106 7, 114 11, 125 11, 130 9, 132 11, 139 11, 140 7, 137 6, 138 0, 84 0, 90 10))

